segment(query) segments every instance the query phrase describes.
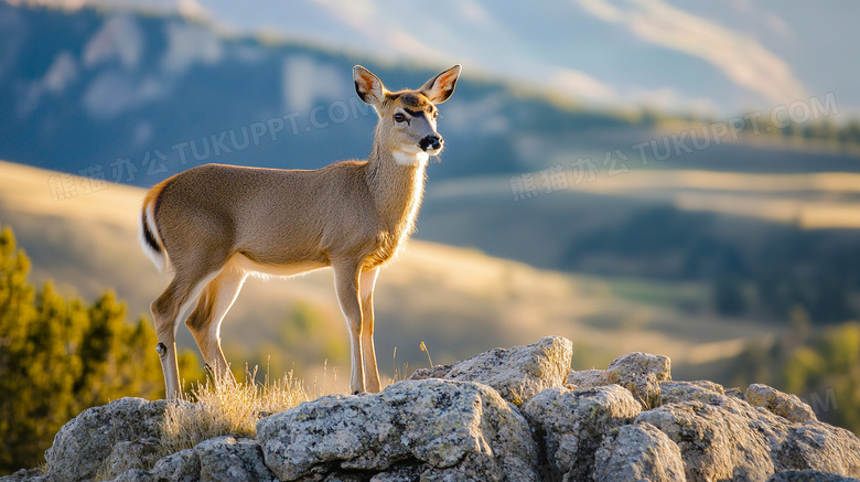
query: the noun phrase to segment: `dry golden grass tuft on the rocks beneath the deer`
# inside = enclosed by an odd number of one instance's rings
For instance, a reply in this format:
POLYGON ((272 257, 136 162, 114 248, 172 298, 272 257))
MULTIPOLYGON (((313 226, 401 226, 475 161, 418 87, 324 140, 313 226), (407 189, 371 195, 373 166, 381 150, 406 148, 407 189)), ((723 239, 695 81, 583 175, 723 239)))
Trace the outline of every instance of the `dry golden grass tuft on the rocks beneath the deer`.
POLYGON ((252 373, 246 371, 245 383, 198 384, 191 394, 183 394, 171 404, 162 425, 164 456, 193 448, 213 437, 256 437, 259 419, 309 399, 308 392, 292 377, 292 372, 275 382, 267 375, 262 384, 255 382, 256 373, 256 368, 252 373))

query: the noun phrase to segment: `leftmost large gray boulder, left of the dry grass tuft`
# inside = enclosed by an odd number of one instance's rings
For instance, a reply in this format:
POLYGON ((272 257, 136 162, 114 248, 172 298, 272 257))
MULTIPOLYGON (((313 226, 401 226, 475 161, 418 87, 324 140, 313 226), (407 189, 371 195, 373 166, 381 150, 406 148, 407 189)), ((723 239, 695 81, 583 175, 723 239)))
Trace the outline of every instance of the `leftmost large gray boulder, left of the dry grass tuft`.
POLYGON ((93 479, 117 443, 161 435, 166 404, 120 398, 84 410, 54 437, 45 452, 47 473, 61 482, 93 479))

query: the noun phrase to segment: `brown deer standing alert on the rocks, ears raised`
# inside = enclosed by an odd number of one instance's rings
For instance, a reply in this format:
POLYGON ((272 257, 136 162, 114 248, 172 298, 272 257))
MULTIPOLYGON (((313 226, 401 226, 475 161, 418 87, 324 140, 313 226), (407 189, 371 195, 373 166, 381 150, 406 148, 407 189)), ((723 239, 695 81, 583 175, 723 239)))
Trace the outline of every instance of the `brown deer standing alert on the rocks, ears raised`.
POLYGON ((173 278, 152 302, 166 397, 180 394, 175 335, 181 317, 215 383, 234 382, 221 324, 249 275, 291 277, 331 267, 350 335, 350 390, 378 393, 373 293, 379 269, 415 231, 426 168, 444 146, 439 104, 461 66, 417 90, 389 92, 361 65, 355 92, 378 115, 366 160, 316 170, 203 164, 147 192, 140 243, 173 278))

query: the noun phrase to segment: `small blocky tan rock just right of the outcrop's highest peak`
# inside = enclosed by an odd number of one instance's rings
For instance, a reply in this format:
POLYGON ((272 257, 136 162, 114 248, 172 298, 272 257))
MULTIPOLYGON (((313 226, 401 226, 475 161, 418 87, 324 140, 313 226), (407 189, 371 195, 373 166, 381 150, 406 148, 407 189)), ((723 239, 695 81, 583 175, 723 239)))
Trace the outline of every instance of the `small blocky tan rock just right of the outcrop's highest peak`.
POLYGON ((621 385, 628 389, 643 408, 658 405, 660 382, 671 381, 671 361, 667 356, 634 352, 619 356, 606 369, 571 372, 568 384, 579 388, 621 385))

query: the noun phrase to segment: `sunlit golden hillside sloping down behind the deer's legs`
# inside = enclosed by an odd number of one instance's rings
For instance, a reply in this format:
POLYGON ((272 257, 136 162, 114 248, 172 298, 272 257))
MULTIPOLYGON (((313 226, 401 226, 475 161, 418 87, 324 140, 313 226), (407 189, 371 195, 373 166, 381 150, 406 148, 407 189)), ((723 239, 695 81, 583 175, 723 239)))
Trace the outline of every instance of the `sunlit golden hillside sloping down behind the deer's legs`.
MULTIPOLYGON (((7 162, 0 172, 0 223, 14 229, 36 280, 52 278, 62 291, 87 299, 115 289, 132 317, 149 317, 169 276, 159 275, 138 245, 142 190, 110 185, 53 201, 49 183, 56 172, 7 162)), ((685 364, 728 360, 750 338, 778 332, 697 312, 708 294, 695 283, 571 276, 421 240, 385 268, 376 294, 377 353, 386 376, 402 374, 404 364, 410 371, 426 366, 422 341, 434 363, 449 363, 556 333, 574 340, 574 366, 587 368, 637 350, 685 364)), ((307 375, 327 357, 330 377, 333 366, 347 369, 346 328, 329 270, 249 280, 223 333, 228 360, 238 366, 265 367, 271 356, 276 373, 297 367, 307 375)), ((194 346, 184 328, 180 343, 194 346)))

